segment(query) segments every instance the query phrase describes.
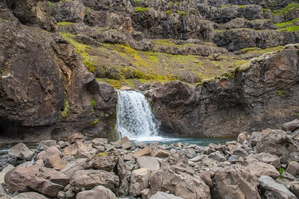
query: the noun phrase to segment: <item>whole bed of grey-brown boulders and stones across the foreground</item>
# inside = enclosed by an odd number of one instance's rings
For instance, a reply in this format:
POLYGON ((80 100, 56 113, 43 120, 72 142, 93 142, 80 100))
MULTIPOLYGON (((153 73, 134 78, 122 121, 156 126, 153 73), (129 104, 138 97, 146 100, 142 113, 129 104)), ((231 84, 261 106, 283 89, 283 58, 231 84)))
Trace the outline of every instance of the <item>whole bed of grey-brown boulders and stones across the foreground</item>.
POLYGON ((0 170, 1 199, 297 199, 299 120, 205 147, 76 133, 18 143, 0 170))

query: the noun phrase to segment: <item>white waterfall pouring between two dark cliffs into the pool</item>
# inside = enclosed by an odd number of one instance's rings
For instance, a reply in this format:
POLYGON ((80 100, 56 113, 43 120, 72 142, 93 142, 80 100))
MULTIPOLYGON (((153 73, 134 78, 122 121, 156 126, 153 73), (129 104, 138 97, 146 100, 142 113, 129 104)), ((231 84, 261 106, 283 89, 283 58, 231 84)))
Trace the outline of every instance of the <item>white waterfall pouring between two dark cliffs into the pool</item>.
POLYGON ((116 130, 133 140, 158 140, 158 122, 149 102, 139 92, 118 90, 116 130))

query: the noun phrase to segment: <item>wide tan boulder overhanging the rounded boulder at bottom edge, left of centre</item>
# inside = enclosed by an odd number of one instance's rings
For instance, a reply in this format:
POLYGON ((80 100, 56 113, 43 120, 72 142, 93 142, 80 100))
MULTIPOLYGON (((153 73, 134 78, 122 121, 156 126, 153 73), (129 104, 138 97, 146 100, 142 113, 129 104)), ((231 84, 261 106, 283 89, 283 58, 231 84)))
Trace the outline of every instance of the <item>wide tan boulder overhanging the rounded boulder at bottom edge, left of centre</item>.
POLYGON ((103 170, 81 170, 73 173, 70 178, 70 189, 80 192, 84 187, 91 190, 96 186, 104 186, 112 192, 116 192, 120 184, 119 177, 113 172, 103 170))

